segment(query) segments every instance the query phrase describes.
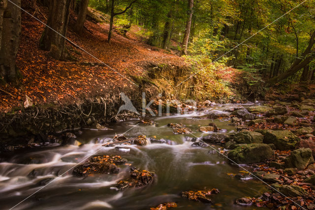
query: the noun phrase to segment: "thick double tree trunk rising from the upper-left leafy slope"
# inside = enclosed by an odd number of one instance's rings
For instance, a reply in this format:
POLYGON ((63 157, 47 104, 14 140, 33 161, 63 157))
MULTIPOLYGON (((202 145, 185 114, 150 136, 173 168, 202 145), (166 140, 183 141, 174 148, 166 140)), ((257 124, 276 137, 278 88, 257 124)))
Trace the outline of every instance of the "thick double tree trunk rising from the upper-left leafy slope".
POLYGON ((65 35, 69 22, 71 0, 51 0, 47 26, 40 38, 39 47, 50 51, 55 59, 65 59, 65 35))

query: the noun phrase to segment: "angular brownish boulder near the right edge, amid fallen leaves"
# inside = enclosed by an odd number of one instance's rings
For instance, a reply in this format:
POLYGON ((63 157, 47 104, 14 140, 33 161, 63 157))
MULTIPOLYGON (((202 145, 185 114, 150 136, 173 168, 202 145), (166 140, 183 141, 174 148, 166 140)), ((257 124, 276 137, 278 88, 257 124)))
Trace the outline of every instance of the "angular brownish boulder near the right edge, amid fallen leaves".
POLYGON ((291 152, 291 154, 284 159, 287 168, 297 168, 304 170, 308 165, 314 163, 312 150, 310 148, 300 148, 291 152))

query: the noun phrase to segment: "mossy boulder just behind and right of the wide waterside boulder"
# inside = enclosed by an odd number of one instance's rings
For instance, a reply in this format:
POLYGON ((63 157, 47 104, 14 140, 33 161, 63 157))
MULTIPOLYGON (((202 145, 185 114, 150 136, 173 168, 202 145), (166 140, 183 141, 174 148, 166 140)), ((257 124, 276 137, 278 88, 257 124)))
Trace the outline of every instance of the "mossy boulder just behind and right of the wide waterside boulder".
POLYGON ((279 150, 294 149, 295 144, 300 139, 290 131, 272 131, 264 132, 264 143, 273 143, 279 150))

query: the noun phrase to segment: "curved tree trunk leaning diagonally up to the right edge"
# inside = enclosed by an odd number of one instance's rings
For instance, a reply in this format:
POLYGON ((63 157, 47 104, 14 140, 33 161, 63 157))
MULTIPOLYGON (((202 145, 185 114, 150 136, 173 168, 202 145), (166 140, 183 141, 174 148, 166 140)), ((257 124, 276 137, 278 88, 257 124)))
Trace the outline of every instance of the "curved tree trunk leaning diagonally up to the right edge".
POLYGON ((268 81, 266 81, 266 85, 270 86, 271 84, 280 82, 286 79, 287 77, 295 74, 297 71, 301 70, 305 66, 307 66, 315 57, 314 53, 312 53, 312 48, 313 48, 314 43, 315 43, 315 31, 311 35, 309 44, 307 48, 305 49, 305 51, 302 53, 300 57, 297 57, 295 59, 295 61, 293 62, 289 70, 285 71, 284 73, 274 78, 269 79, 268 81))

